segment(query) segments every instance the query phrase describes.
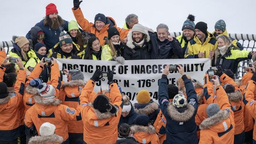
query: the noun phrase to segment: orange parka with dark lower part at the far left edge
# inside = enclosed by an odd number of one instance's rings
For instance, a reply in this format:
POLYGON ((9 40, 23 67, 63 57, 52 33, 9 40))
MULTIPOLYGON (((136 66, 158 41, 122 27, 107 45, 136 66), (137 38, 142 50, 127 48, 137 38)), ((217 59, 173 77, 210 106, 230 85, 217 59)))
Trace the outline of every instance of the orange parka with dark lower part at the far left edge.
MULTIPOLYGON (((0 82, 5 68, 0 66, 0 82)), ((26 71, 19 70, 14 88, 9 88, 9 95, 0 99, 0 141, 10 141, 20 136, 20 109, 22 103, 26 71)))

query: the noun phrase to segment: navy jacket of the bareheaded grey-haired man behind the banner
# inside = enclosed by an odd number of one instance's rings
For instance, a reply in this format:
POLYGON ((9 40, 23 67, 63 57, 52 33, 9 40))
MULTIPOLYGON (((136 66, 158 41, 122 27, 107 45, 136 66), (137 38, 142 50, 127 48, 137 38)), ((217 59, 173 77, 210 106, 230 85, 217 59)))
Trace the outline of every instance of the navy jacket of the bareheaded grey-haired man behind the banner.
POLYGON ((151 59, 171 59, 173 55, 183 58, 182 49, 179 41, 174 37, 173 41, 165 39, 165 41, 160 41, 158 39, 158 34, 150 33, 150 42, 152 44, 151 59))

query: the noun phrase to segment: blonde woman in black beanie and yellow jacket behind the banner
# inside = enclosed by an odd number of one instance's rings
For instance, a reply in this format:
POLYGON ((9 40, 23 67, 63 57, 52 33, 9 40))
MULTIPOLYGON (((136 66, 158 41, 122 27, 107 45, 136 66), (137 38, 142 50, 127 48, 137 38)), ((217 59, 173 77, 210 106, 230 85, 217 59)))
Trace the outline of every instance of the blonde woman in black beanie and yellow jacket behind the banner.
POLYGON ((101 60, 114 60, 121 64, 124 63, 124 58, 121 56, 124 45, 119 38, 120 34, 116 27, 110 27, 108 29, 108 39, 102 48, 101 60))

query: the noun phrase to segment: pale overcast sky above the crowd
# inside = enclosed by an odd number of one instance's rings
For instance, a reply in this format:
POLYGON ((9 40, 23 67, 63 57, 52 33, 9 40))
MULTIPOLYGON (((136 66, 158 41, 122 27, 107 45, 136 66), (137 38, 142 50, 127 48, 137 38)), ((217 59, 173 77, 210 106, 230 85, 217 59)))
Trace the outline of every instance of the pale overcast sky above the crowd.
MULTIPOLYGON (((25 36, 44 18, 45 7, 51 2, 64 20, 75 20, 73 0, 2 0, 0 41, 11 40, 12 35, 25 36)), ((209 32, 223 19, 229 33, 256 34, 255 5, 256 0, 84 0, 80 7, 90 22, 97 13, 103 13, 113 17, 118 27, 123 27, 126 16, 134 13, 140 24, 153 30, 165 23, 170 32, 180 32, 188 14, 193 14, 195 23, 207 23, 209 32)))

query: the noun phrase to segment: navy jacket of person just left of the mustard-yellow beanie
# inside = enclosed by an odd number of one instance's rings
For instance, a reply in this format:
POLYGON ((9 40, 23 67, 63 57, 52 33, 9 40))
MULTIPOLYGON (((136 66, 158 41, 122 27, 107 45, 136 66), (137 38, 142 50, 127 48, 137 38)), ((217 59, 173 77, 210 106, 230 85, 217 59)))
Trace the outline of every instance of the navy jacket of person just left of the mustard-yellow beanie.
MULTIPOLYGON (((130 101, 129 101, 129 102, 130 102, 130 101)), ((119 120, 119 123, 118 123, 118 127, 119 127, 121 124, 123 124, 123 123, 129 124, 129 125, 134 124, 135 119, 136 119, 136 117, 138 116, 138 114, 134 111, 134 108, 133 108, 132 103, 130 103, 130 105, 131 105, 131 109, 130 109, 129 114, 128 114, 126 117, 123 117, 123 116, 121 115, 120 120, 119 120)))

